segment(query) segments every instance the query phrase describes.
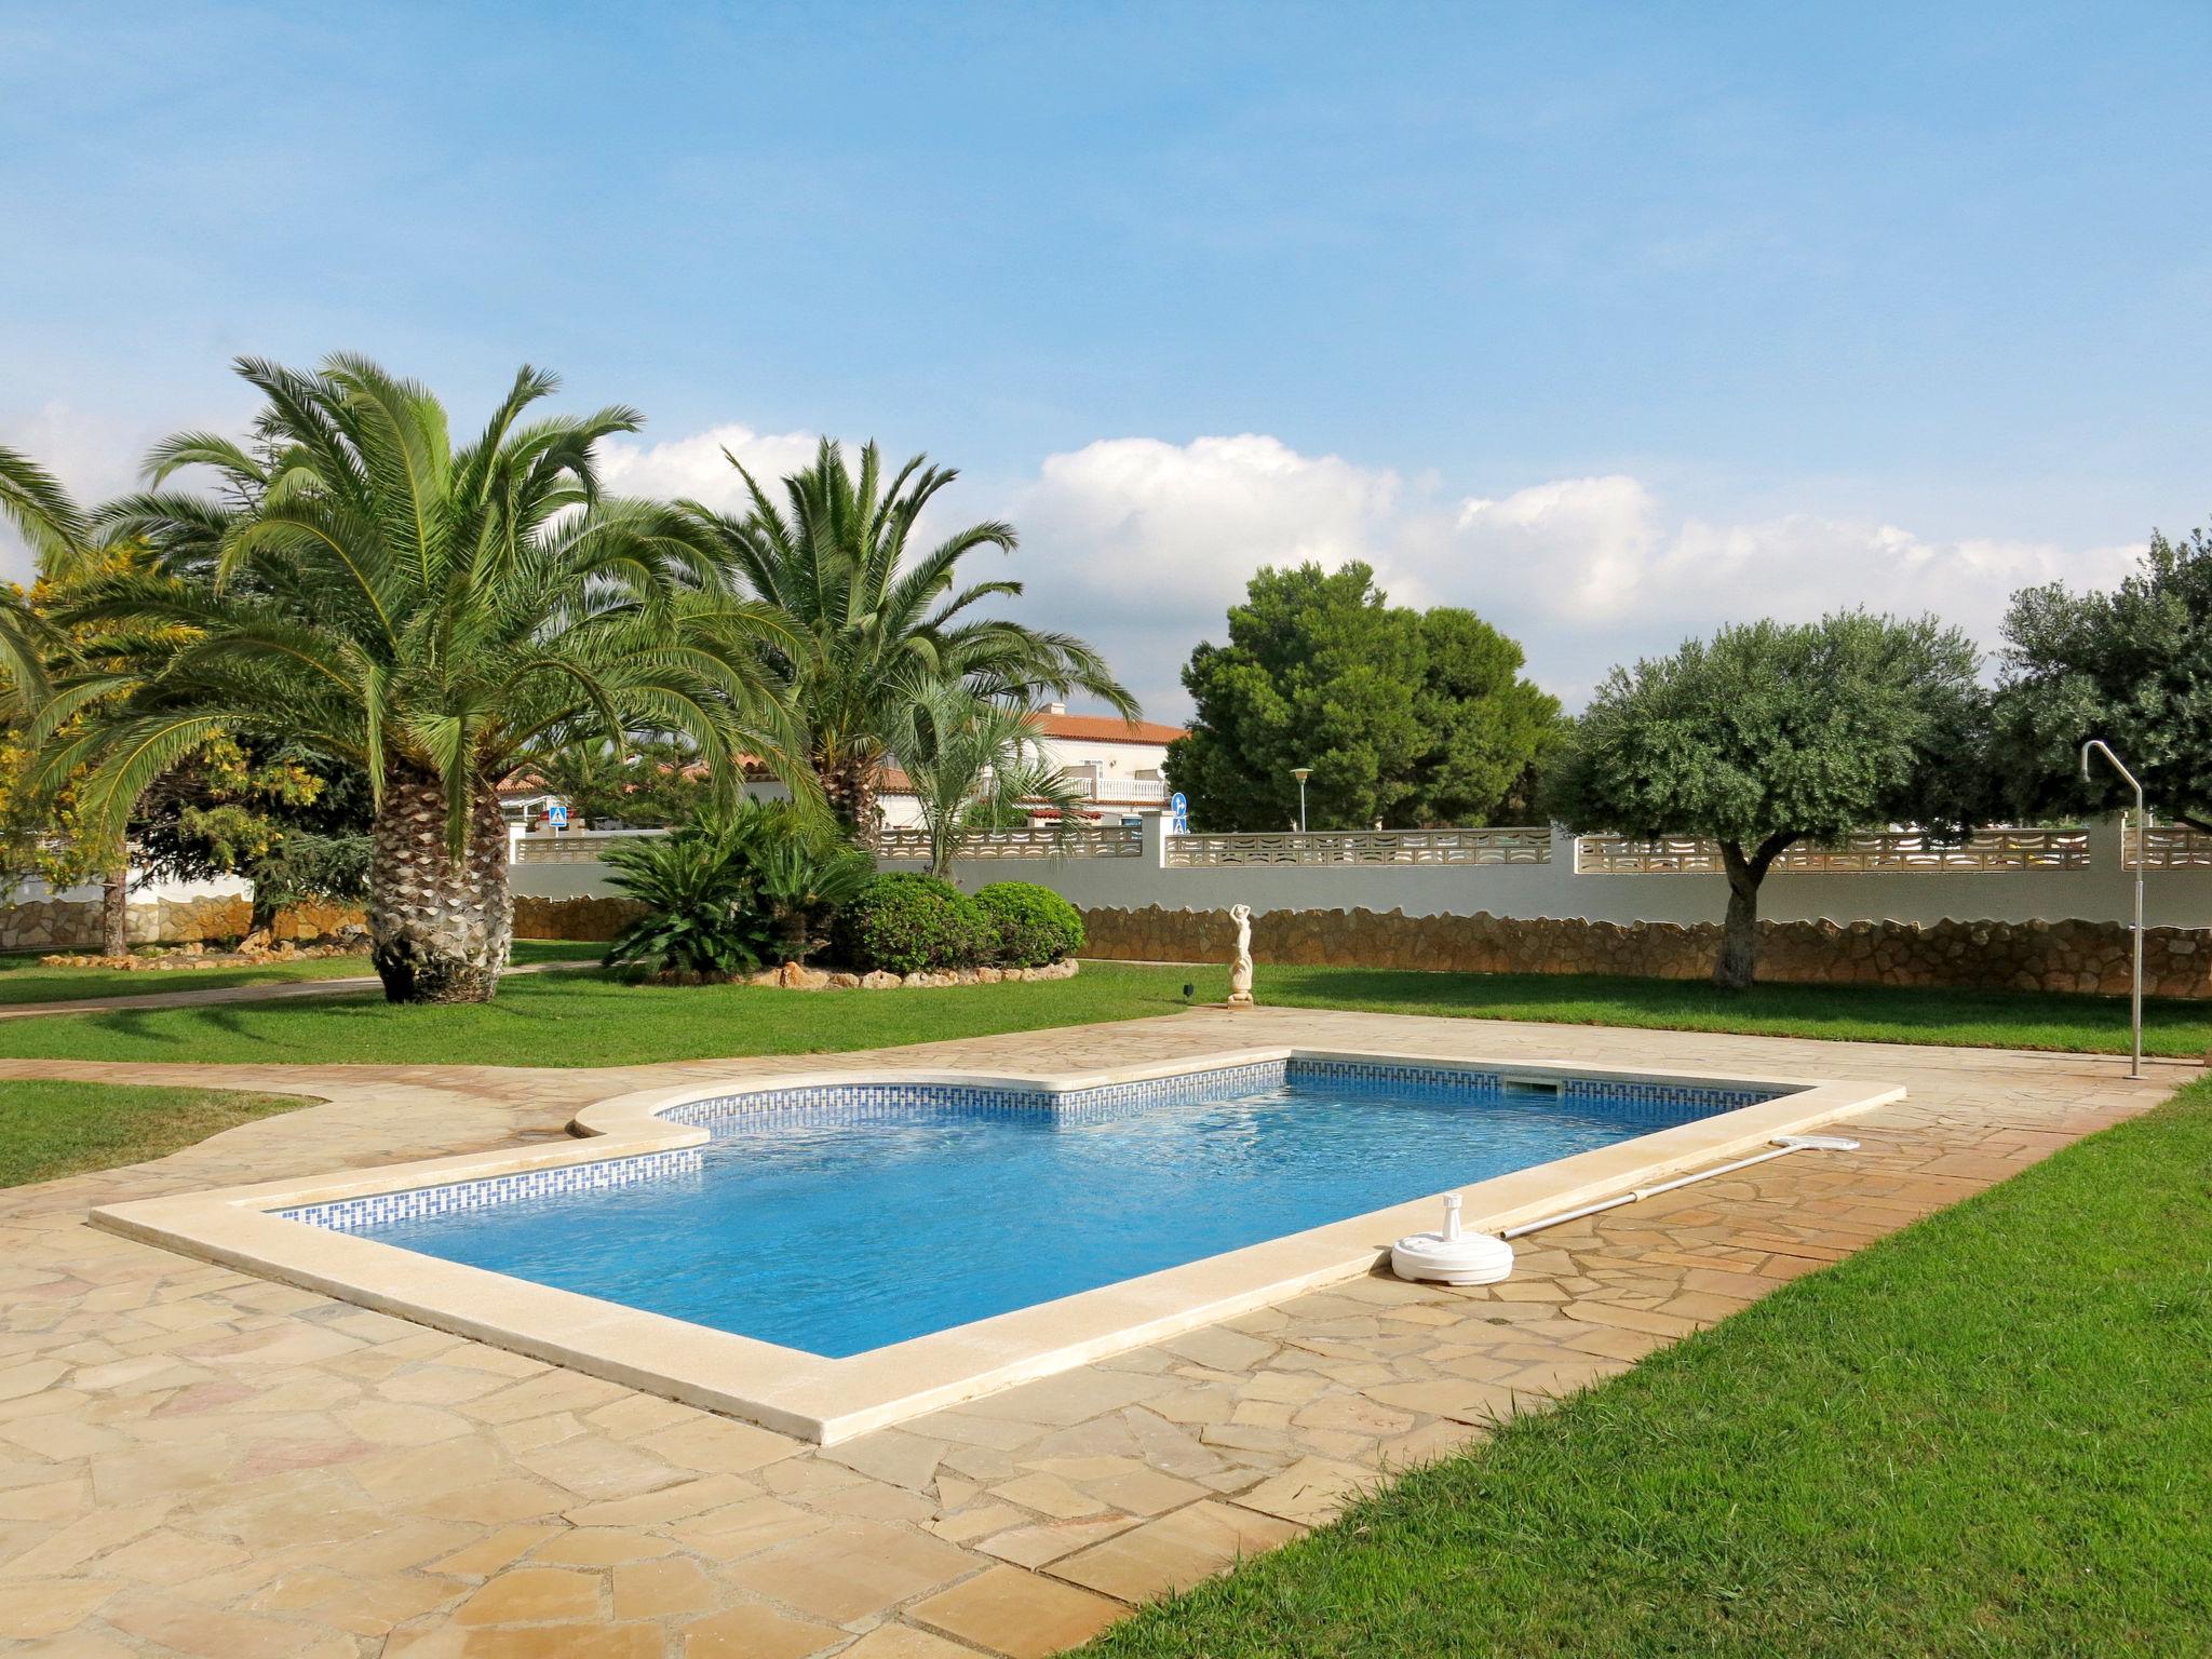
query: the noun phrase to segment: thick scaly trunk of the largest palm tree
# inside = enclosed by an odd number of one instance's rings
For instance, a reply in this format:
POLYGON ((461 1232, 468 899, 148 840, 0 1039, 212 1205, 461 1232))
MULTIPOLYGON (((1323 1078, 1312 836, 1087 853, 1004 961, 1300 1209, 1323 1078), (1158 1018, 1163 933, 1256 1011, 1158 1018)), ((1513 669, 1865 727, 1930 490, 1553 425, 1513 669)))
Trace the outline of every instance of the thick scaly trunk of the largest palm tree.
POLYGON ((445 790, 398 772, 369 830, 369 960, 387 1002, 489 1002, 513 942, 500 794, 478 781, 469 847, 445 841, 445 790))

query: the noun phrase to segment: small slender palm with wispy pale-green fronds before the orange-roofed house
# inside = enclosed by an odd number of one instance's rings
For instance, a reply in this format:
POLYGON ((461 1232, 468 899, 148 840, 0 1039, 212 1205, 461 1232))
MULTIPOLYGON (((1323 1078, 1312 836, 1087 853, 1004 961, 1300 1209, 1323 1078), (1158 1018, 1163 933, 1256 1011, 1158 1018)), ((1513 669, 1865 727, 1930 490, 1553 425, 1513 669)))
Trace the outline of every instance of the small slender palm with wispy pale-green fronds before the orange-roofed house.
POLYGON ((1037 741, 1026 708, 975 697, 960 681, 916 688, 898 739, 898 763, 914 785, 929 834, 929 874, 951 880, 953 856, 978 825, 1046 810, 1055 841, 1068 841, 1084 796, 1037 741))

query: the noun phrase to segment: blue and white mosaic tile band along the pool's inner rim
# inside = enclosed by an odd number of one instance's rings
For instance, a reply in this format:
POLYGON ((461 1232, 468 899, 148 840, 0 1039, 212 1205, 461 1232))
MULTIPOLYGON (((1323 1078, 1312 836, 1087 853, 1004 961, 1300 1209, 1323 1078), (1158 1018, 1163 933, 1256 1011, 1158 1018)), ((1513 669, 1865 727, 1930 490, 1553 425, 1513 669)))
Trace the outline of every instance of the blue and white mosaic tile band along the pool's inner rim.
MULTIPOLYGON (((998 1088, 991 1084, 807 1084, 801 1088, 757 1088, 741 1095, 717 1095, 675 1106, 661 1117, 692 1128, 774 1128, 779 1124, 865 1124, 914 1113, 916 1108, 962 1113, 1051 1113, 1055 1121, 1095 1124, 1146 1110, 1166 1102, 1197 1104, 1237 1099, 1285 1084, 1334 1082, 1389 1088, 1422 1097, 1471 1099, 1502 1106, 1513 1099, 1511 1082, 1498 1071, 1467 1066, 1394 1064, 1387 1060, 1261 1060, 1245 1066, 1212 1066, 1208 1071, 1146 1077, 1128 1084, 1099 1084, 1055 1095, 1044 1088, 998 1088)), ((1542 1091, 1533 1091, 1542 1093, 1542 1091)), ((1559 1099, 1604 1102, 1613 1115, 1628 1121, 1679 1124, 1694 1117, 1752 1106, 1772 1099, 1750 1088, 1697 1088, 1683 1084, 1606 1082, 1595 1077, 1562 1077, 1559 1099)), ((604 1188, 653 1181, 664 1175, 695 1175, 701 1148, 686 1146, 637 1157, 593 1159, 520 1175, 493 1175, 480 1181, 374 1192, 361 1199, 332 1199, 294 1210, 276 1210, 285 1221, 356 1232, 392 1221, 484 1210, 524 1199, 595 1192, 604 1188)))

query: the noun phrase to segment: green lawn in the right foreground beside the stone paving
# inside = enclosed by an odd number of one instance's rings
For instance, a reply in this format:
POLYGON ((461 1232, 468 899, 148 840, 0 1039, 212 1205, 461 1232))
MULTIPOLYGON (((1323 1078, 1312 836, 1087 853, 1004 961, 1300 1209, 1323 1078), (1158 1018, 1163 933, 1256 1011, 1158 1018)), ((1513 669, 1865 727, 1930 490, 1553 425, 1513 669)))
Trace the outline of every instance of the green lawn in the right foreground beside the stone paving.
POLYGON ((2212 1652, 2212 1084, 1093 1659, 2212 1652))

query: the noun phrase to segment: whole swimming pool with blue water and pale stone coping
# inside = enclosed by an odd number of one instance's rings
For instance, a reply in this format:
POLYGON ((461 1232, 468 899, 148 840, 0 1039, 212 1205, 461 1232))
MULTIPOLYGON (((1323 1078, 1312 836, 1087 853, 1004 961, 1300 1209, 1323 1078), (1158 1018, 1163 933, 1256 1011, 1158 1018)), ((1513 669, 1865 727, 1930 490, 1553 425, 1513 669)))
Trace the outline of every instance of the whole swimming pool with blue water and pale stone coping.
POLYGON ((1482 1060, 1427 1022, 1376 1026, 1429 1046, 1164 1042, 1071 1075, 827 1060, 615 1095, 575 1115, 573 1139, 128 1199, 91 1221, 834 1444, 1371 1274, 1438 1223, 1447 1190, 1495 1232, 1905 1095, 1482 1060), (440 1219, 469 1223, 449 1237, 493 1223, 478 1237, 500 1243, 403 1241, 440 1219), (538 1265, 509 1219, 542 1228, 538 1265))

